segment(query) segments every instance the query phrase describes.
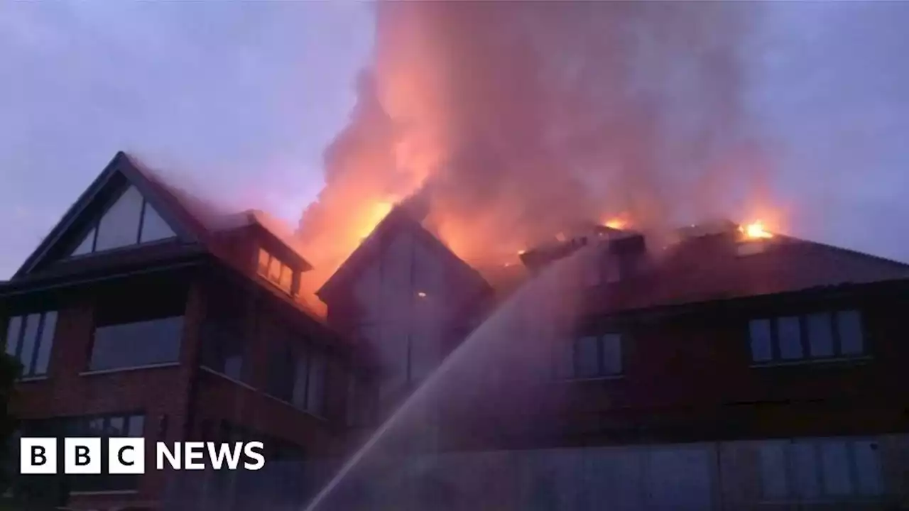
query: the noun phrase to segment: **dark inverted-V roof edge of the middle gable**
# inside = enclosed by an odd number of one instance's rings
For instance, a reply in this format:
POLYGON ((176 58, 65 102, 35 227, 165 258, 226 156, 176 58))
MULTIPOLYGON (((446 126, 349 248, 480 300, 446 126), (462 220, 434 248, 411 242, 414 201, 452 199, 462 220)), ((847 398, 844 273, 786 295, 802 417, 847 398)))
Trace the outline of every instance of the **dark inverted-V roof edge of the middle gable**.
POLYGON ((356 247, 354 252, 345 259, 345 262, 338 267, 335 274, 316 291, 315 295, 325 302, 329 301, 331 296, 345 288, 377 255, 380 255, 385 250, 385 246, 394 237, 391 234, 400 230, 409 230, 430 250, 434 250, 436 254, 445 258, 455 271, 462 273, 464 282, 468 285, 476 286, 483 292, 493 291, 492 286, 489 286, 484 277, 473 266, 468 265, 460 257, 454 255, 454 252, 439 241, 435 235, 426 230, 414 218, 408 207, 398 205, 388 215, 385 215, 385 218, 375 226, 375 229, 366 236, 363 243, 356 247))

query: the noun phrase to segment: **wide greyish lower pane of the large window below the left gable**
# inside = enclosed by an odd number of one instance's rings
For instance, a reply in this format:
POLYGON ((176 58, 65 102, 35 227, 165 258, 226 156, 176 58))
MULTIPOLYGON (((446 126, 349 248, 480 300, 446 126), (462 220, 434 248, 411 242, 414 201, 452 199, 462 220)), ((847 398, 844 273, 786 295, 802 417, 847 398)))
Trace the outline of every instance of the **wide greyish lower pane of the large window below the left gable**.
POLYGON ((180 356, 183 316, 95 328, 92 370, 176 362, 180 356))

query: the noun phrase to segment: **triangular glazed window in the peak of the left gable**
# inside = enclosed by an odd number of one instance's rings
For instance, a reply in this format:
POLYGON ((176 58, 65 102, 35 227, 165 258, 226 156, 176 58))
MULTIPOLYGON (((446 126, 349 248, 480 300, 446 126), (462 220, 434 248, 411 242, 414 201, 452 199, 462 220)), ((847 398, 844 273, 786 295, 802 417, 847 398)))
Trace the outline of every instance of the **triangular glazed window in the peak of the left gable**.
POLYGON ((95 220, 71 255, 86 255, 175 237, 173 229, 135 186, 95 220))

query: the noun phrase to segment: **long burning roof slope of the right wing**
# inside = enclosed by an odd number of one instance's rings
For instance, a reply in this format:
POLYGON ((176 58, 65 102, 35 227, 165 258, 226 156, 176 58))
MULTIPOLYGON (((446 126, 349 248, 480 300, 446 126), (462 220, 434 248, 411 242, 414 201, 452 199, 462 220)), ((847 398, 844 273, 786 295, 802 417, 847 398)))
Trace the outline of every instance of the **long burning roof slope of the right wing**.
POLYGON ((744 243, 737 230, 683 239, 651 252, 638 276, 604 286, 591 312, 612 313, 830 286, 909 279, 909 265, 791 236, 744 243), (762 245, 763 244, 763 245, 762 245))

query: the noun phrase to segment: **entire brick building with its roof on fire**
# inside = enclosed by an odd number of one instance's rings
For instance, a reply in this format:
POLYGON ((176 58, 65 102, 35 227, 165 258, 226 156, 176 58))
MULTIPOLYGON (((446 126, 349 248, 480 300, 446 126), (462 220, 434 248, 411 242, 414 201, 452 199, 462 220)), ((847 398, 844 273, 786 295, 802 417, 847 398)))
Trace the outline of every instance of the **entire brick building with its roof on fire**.
POLYGON ((325 510, 909 496, 909 266, 732 223, 665 246, 591 226, 523 253, 511 291, 420 219, 386 216, 318 292, 319 319, 295 292, 305 258, 265 215, 215 212, 117 155, 0 286, 23 431, 224 431, 265 438, 277 463, 74 487, 72 505, 301 506, 413 396, 325 510))

